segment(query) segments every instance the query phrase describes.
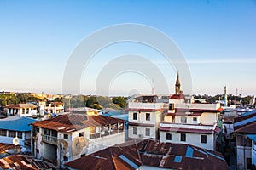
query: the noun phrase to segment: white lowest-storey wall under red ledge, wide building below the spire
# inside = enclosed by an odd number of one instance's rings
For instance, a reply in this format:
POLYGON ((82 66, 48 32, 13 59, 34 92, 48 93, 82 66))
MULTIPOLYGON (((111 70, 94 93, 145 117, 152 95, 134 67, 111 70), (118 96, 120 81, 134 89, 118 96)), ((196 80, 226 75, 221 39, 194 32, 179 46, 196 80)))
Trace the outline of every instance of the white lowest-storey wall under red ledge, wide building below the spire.
POLYGON ((166 131, 160 131, 160 142, 172 142, 178 144, 193 144, 195 146, 214 150, 214 134, 186 133, 186 142, 180 141, 181 133, 172 133, 172 140, 166 140, 166 131), (201 143, 201 135, 207 135, 207 144, 201 143))

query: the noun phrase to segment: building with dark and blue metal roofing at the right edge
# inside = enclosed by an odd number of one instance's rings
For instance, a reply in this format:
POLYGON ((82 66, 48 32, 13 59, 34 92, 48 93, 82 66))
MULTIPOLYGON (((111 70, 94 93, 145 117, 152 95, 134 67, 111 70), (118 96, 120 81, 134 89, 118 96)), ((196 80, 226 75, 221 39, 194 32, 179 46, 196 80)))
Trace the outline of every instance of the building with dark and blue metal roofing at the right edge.
POLYGON ((256 110, 244 113, 234 120, 236 134, 236 166, 241 169, 256 168, 256 110))

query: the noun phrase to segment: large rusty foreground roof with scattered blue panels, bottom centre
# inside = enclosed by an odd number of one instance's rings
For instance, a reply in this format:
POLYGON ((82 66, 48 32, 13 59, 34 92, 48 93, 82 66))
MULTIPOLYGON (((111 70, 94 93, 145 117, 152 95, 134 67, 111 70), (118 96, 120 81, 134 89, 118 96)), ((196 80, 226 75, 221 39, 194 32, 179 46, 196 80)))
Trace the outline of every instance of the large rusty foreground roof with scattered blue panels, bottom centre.
POLYGON ((190 144, 145 139, 109 147, 67 162, 68 169, 229 169, 224 157, 190 144))

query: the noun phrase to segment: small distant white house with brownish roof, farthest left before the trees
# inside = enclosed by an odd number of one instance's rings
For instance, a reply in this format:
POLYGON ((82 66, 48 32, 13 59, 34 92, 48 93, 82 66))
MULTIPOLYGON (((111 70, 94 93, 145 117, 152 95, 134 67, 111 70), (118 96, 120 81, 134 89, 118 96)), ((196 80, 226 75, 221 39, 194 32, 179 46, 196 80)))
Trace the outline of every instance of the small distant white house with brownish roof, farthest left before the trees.
POLYGON ((6 105, 4 109, 8 116, 35 116, 38 115, 38 106, 33 104, 6 105))

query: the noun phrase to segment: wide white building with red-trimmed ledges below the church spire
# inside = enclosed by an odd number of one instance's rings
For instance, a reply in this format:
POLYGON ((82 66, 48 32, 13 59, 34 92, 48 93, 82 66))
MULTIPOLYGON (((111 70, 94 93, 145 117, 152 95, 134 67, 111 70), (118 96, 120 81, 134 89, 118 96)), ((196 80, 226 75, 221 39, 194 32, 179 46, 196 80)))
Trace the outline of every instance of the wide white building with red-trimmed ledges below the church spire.
POLYGON ((219 107, 219 104, 171 103, 164 121, 160 122, 160 141, 215 150, 220 130, 219 107))

